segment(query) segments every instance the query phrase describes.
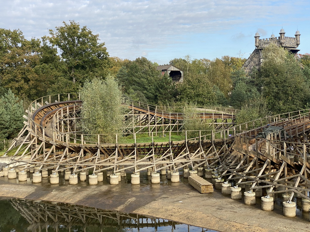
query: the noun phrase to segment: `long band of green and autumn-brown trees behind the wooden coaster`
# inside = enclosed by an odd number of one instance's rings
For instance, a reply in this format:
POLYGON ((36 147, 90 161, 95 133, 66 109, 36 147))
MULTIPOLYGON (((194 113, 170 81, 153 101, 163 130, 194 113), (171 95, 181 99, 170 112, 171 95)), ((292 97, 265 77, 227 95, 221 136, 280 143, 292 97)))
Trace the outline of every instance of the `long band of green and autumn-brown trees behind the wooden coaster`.
POLYGON ((92 80, 114 79, 123 95, 154 105, 241 109, 239 122, 309 108, 310 55, 294 56, 270 45, 263 56, 261 69, 250 76, 241 69, 242 57, 175 58, 169 64, 184 71, 183 83, 176 84, 145 57, 110 57, 99 35, 73 20, 40 39, 0 28, 0 137, 18 133, 8 128, 16 118, 21 123, 14 125, 22 126, 21 105, 49 94, 85 91, 92 80))

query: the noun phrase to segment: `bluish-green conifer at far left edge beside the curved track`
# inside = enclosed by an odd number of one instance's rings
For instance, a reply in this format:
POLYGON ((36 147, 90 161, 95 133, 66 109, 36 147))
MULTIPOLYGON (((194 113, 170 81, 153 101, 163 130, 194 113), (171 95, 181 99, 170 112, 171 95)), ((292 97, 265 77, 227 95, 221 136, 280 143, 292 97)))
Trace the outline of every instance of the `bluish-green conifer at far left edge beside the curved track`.
POLYGON ((8 90, 0 98, 0 139, 15 138, 23 127, 23 101, 8 90))

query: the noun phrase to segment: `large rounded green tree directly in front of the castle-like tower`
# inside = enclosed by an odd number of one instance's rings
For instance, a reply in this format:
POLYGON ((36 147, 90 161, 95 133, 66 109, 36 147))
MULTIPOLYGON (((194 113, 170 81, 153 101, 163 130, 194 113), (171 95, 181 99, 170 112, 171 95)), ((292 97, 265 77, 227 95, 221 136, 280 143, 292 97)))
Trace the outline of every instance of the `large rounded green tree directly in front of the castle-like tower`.
POLYGON ((276 114, 302 109, 309 100, 309 86, 294 55, 271 44, 263 57, 259 81, 268 109, 276 114))

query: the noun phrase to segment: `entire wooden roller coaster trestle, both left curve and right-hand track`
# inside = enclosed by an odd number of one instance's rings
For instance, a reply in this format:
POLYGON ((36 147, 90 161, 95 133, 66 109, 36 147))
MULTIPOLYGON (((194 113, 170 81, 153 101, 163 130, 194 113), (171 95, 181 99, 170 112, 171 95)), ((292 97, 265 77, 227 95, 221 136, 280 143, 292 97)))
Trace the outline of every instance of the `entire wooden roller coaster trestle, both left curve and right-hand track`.
POLYGON ((123 104, 129 109, 128 127, 123 133, 132 133, 134 143, 119 144, 115 135, 115 144, 104 144, 100 135, 91 142, 76 130, 82 102, 78 95, 74 97, 76 100, 70 94, 42 97, 29 106, 25 126, 9 148, 17 149, 11 166, 54 171, 72 168, 73 172, 93 173, 107 169, 115 172, 133 168, 138 172, 150 167, 158 171, 188 165, 217 166, 220 176, 236 185, 250 183, 254 191, 267 189, 267 194, 283 192, 290 193, 290 199, 295 194, 310 200, 310 109, 238 126, 234 125, 232 111, 201 112, 200 118, 218 123, 218 130, 210 135, 199 131, 199 136, 191 139, 183 131, 185 140, 171 141, 172 132, 182 131, 183 114, 127 99, 123 104), (266 139, 256 137, 269 126, 283 129, 266 139), (136 135, 141 132, 148 133, 152 142, 136 143, 136 135), (169 141, 154 142, 157 133, 167 134, 169 141))

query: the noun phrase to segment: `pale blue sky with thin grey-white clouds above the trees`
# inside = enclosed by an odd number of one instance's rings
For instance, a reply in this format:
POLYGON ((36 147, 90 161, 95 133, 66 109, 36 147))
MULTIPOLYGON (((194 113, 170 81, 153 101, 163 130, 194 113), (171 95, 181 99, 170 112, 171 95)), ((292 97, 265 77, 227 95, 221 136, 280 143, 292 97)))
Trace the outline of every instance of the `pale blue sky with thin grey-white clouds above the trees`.
POLYGON ((99 34, 111 57, 171 59, 248 58, 254 35, 287 37, 300 31, 301 54, 310 53, 308 0, 1 0, 0 28, 27 39, 74 20, 99 34))

